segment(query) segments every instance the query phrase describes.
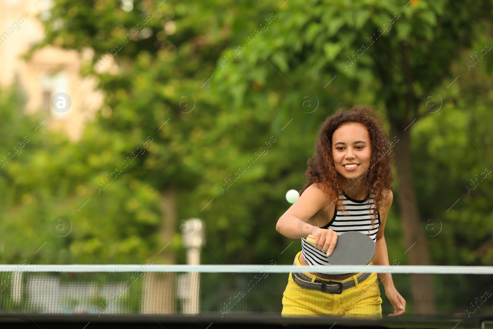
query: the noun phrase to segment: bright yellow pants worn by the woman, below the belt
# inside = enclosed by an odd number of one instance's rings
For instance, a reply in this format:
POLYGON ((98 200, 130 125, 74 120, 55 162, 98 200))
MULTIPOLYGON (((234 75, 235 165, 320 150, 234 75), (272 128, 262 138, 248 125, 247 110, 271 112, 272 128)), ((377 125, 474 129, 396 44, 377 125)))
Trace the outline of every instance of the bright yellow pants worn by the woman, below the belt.
MULTIPOLYGON (((299 256, 296 255, 296 265, 301 266, 299 256)), ((329 281, 305 273, 315 279, 329 281)), ((355 274, 345 280, 330 280, 344 282, 355 280, 361 274, 355 274)), ((320 292, 316 290, 304 289, 294 283, 291 273, 282 297, 282 316, 283 317, 316 317, 316 316, 333 316, 333 317, 352 317, 352 318, 373 318, 382 319, 382 298, 378 287, 377 273, 372 273, 363 282, 356 286, 345 289, 341 294, 320 292)))

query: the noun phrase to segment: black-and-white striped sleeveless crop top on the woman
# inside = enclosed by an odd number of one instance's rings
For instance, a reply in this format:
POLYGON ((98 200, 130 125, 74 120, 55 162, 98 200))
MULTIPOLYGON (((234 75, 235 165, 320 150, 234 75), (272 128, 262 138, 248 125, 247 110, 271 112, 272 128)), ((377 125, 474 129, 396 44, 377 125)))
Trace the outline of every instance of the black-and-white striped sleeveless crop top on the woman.
MULTIPOLYGON (((373 190, 371 191, 373 192, 373 190)), ((334 216, 330 222, 321 227, 326 229, 332 229, 337 233, 337 236, 344 232, 356 231, 364 234, 369 234, 373 241, 377 242, 377 232, 380 226, 380 214, 377 214, 378 218, 374 220, 374 226, 372 228, 372 215, 374 212, 375 202, 373 200, 374 194, 371 194, 370 198, 364 200, 354 200, 343 192, 343 195, 339 196, 345 208, 345 212, 335 211, 334 216), (348 216, 349 215, 349 216, 348 216)), ((306 238, 301 238, 301 252, 306 262, 309 265, 330 265, 327 261, 327 254, 318 250, 313 245, 309 244, 306 238)), ((372 264, 370 263, 370 266, 372 264)), ((319 272, 323 274, 346 274, 346 273, 329 273, 319 272)))

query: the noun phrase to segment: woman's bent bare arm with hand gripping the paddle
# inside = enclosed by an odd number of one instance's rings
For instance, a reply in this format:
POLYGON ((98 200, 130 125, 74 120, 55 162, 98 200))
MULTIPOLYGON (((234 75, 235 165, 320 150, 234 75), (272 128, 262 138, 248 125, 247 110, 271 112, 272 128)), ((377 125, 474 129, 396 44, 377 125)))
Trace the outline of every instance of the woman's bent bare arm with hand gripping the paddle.
POLYGON ((325 210, 330 204, 325 193, 315 184, 310 185, 288 210, 279 218, 276 230, 291 239, 306 238, 309 234, 315 236, 314 246, 323 251, 334 250, 337 233, 331 229, 319 228, 317 219, 313 216, 319 210, 325 210))

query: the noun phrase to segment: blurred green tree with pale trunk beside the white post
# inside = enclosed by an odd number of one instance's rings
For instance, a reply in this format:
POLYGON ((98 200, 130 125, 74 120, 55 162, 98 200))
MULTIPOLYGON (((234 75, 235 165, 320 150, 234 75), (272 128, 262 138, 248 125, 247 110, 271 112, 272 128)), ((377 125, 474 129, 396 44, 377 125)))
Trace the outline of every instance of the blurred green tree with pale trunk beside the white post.
MULTIPOLYGON (((242 1, 237 7, 225 10, 224 1, 174 4, 141 1, 133 10, 125 12, 117 3, 87 1, 87 4, 74 4, 58 0, 51 9, 51 18, 45 22, 46 40, 33 48, 34 51, 53 44, 81 53, 87 53, 87 49, 90 49, 89 53, 93 52, 83 75, 99 78, 106 101, 96 126, 90 126, 101 141, 100 145, 89 142, 94 139, 92 133, 87 133, 81 141, 96 147, 91 152, 95 159, 90 170, 93 171, 91 180, 99 187, 86 193, 87 198, 93 196, 105 200, 100 194, 109 194, 107 192, 119 187, 108 179, 115 176, 115 165, 120 166, 119 163, 142 141, 148 137, 152 139, 145 153, 125 168, 121 177, 129 175, 129 180, 140 181, 159 200, 157 205, 161 209, 158 213, 163 219, 161 227, 157 228, 159 238, 153 248, 154 256, 173 241, 170 248, 160 253, 159 261, 175 261, 172 247, 179 243, 176 228, 182 226, 177 219, 185 219, 183 215, 198 216, 211 199, 221 194, 219 185, 224 184, 232 173, 231 167, 214 168, 231 159, 242 158, 242 154, 249 157, 258 149, 255 141, 259 146, 269 141, 267 132, 256 134, 269 120, 268 115, 256 117, 246 111, 228 111, 231 104, 218 97, 210 87, 217 58, 232 38, 238 37, 232 33, 231 24, 240 32, 253 29, 254 24, 250 21, 269 17, 270 11, 265 9, 269 5, 266 2, 252 8, 242 1), (217 14, 217 8, 226 11, 224 15, 217 14), (117 64, 116 70, 113 63, 117 64), (252 135, 235 140, 239 129, 250 129, 252 135), (200 187, 204 185, 205 177, 213 177, 213 187, 200 187), (94 195, 95 191, 98 191, 97 195, 94 195)), ((257 171, 259 169, 260 166, 257 171)), ((234 170, 236 172, 238 167, 234 170)), ((111 204, 111 201, 105 202, 111 204)), ((224 202, 221 203, 223 206, 224 202)), ((81 212, 88 213, 93 211, 91 209, 99 210, 93 205, 84 207, 81 212)), ((222 214, 232 223, 243 220, 243 226, 256 222, 250 210, 246 214, 236 209, 222 214)), ((115 220, 114 214, 107 216, 106 220, 115 220)), ((270 217, 271 221, 275 216, 270 217)), ((209 218, 217 220, 211 213, 205 217, 208 223, 209 218)), ((209 236, 214 237, 216 226, 212 223, 208 227, 209 236)), ((239 241, 248 241, 248 238, 243 240, 245 230, 242 228, 235 231, 224 225, 217 227, 229 229, 232 237, 241 236, 239 241)), ((273 235, 270 229, 265 234, 273 235)), ((251 231, 250 236, 254 235, 251 231)), ((222 243, 218 240, 214 245, 214 239, 209 241, 212 249, 222 243)), ((244 247, 244 244, 237 244, 218 256, 228 261, 244 247)), ((216 261, 214 254, 206 256, 206 261, 211 258, 216 261)), ((256 256, 255 253, 248 254, 243 261, 253 261, 256 256)))

